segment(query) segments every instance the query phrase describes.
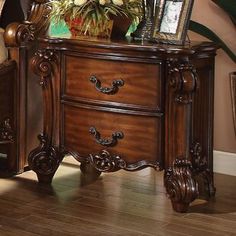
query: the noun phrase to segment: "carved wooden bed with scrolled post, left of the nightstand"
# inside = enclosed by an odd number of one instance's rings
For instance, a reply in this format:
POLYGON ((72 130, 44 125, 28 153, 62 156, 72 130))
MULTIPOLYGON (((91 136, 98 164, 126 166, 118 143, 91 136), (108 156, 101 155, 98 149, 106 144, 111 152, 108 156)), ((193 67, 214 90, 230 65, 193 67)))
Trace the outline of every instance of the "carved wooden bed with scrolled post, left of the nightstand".
POLYGON ((37 37, 47 30, 49 7, 45 0, 22 2, 26 21, 6 27, 9 61, 0 65, 0 159, 4 160, 0 163, 0 175, 24 171, 28 154, 37 142, 35 136, 42 127, 41 112, 36 112, 42 107, 41 90, 32 79, 35 75, 29 61, 36 50, 37 37))

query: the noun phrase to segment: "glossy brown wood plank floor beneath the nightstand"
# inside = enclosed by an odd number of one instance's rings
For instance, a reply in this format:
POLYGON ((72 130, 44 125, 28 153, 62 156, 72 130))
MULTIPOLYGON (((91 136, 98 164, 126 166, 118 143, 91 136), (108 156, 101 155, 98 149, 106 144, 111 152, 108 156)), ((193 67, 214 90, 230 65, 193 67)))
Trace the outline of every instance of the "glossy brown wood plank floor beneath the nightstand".
POLYGON ((0 236, 236 235, 236 177, 215 175, 217 195, 175 213, 152 169, 118 171, 85 179, 72 158, 52 186, 32 171, 0 179, 0 236))

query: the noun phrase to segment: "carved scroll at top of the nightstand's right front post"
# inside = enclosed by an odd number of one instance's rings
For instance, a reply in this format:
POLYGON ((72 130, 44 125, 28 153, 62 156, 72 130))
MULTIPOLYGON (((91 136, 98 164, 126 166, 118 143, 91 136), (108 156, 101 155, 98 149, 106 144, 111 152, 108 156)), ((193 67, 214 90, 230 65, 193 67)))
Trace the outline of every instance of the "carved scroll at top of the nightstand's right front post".
POLYGON ((175 101, 191 103, 191 95, 198 88, 196 69, 188 61, 179 63, 168 62, 169 84, 175 91, 175 101))

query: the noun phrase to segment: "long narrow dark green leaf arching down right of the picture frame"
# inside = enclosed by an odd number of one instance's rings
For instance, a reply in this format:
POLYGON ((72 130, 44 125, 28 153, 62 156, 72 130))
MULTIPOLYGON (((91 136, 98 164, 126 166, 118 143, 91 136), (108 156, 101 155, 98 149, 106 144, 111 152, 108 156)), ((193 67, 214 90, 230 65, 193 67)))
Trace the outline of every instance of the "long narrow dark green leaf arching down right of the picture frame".
POLYGON ((190 20, 189 23, 189 30, 198 33, 213 42, 217 43, 220 45, 220 47, 227 53, 227 55, 236 63, 236 54, 225 44, 225 42, 218 37, 211 29, 208 27, 190 20))

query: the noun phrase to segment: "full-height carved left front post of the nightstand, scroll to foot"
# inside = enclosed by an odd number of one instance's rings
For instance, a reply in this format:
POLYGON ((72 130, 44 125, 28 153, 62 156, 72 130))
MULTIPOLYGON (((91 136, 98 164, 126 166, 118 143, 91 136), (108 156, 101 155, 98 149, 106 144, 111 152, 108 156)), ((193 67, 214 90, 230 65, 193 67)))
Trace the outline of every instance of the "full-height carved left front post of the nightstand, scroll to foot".
POLYGON ((59 107, 57 101, 58 84, 57 57, 53 51, 38 51, 31 65, 35 74, 40 76, 43 91, 44 130, 39 135, 40 146, 28 157, 29 166, 37 173, 39 182, 50 183, 62 160, 59 152, 59 125, 56 119, 59 107))

